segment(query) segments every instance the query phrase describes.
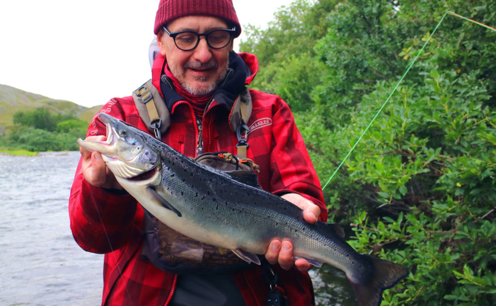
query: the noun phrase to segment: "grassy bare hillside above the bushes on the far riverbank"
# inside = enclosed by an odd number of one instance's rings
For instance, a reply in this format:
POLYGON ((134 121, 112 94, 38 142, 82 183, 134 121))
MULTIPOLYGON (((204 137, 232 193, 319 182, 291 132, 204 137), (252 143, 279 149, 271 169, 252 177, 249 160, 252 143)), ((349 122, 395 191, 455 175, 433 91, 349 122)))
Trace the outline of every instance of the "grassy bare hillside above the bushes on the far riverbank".
POLYGON ((13 125, 12 116, 18 111, 46 107, 53 114, 72 113, 77 118, 90 122, 101 106, 87 108, 70 101, 51 99, 15 87, 0 84, 0 130, 13 125))

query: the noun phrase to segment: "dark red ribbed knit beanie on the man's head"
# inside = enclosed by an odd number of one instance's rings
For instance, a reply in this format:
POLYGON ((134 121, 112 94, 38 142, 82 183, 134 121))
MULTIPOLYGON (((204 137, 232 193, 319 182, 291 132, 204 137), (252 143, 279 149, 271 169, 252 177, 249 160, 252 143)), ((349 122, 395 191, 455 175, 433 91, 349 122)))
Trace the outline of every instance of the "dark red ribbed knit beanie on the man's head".
POLYGON ((160 0, 153 32, 157 35, 162 30, 162 26, 188 15, 213 16, 223 19, 236 26, 234 37, 241 34, 241 25, 232 0, 160 0))

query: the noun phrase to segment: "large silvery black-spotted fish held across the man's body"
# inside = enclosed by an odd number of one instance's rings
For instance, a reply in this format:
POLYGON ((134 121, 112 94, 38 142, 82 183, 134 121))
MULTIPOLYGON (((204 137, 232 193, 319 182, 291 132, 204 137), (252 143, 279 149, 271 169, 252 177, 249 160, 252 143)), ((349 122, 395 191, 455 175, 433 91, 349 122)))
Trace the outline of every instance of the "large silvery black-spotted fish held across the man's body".
POLYGON ((195 162, 153 136, 104 113, 106 141, 81 147, 102 153, 117 181, 153 216, 202 243, 231 249, 260 264, 273 238, 293 243, 294 256, 346 273, 360 306, 380 305, 382 292, 408 275, 402 266, 359 254, 333 224, 309 224, 283 198, 195 162))

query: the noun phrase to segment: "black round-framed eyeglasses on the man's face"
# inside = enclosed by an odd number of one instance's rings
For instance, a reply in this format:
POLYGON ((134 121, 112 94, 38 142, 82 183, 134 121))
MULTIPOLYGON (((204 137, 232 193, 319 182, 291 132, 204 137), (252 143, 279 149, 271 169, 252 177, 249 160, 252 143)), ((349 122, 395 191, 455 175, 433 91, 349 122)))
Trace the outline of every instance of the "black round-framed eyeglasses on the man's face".
POLYGON ((236 28, 228 29, 215 29, 206 33, 196 33, 193 31, 181 31, 171 33, 165 27, 164 31, 174 39, 176 47, 183 51, 190 51, 198 46, 200 37, 205 36, 207 44, 212 49, 222 49, 229 45, 232 35, 236 32, 236 28))

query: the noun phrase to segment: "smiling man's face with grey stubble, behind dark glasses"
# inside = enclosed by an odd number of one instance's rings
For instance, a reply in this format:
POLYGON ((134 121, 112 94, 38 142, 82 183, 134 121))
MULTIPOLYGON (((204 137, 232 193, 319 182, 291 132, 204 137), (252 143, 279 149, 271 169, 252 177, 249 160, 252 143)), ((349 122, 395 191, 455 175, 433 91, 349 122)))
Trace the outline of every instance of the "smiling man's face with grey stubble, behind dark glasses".
MULTIPOLYGON (((167 24, 171 33, 194 31, 206 33, 213 29, 227 29, 227 24, 219 18, 210 16, 185 16, 167 24)), ((191 94, 202 96, 212 92, 227 71, 229 52, 233 43, 222 49, 208 46, 205 36, 200 38, 198 46, 190 51, 180 50, 174 39, 167 33, 159 33, 157 42, 160 53, 165 55, 172 74, 191 94)))

